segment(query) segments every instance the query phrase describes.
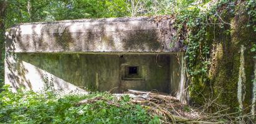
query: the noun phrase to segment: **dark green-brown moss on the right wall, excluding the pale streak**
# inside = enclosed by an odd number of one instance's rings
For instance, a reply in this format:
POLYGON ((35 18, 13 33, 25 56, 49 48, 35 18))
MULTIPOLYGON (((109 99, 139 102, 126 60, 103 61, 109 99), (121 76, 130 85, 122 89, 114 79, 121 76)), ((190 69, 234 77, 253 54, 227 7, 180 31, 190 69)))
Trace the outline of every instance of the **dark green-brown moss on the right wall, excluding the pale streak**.
MULTIPOLYGON (((209 81, 202 81, 201 77, 192 78, 191 99, 197 104, 204 104, 204 98, 212 94, 211 99, 221 105, 228 105, 235 110, 239 107, 237 100, 237 82, 240 67, 240 46, 244 45, 245 58, 245 99, 244 107, 249 107, 252 98, 252 79, 254 78, 254 53, 250 52, 252 44, 256 42, 256 33, 252 27, 247 27, 248 16, 244 8, 235 11, 239 16, 229 12, 222 13, 222 19, 229 23, 221 28, 219 25, 207 27, 206 40, 211 48, 211 66, 209 67, 209 81), (244 12, 244 13, 243 13, 244 12), (200 92, 198 95, 197 93, 200 92)), ((214 107, 214 105, 213 105, 214 107)))

